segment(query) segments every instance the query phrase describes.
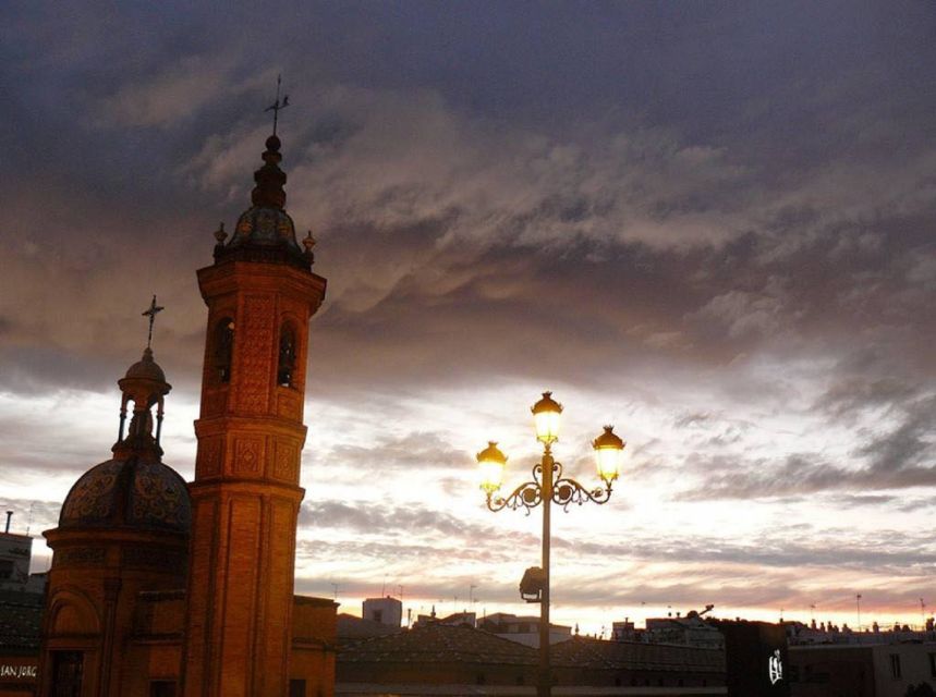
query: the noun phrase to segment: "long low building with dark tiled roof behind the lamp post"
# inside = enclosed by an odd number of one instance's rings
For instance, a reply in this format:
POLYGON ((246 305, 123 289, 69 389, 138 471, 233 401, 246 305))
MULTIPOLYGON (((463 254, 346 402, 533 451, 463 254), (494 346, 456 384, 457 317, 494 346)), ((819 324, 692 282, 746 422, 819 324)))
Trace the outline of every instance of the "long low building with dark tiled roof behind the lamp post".
MULTIPOLYGON (((575 637, 555 645, 551 657, 557 697, 727 694, 722 651, 575 637), (635 693, 634 686, 644 689, 635 693)), ((429 623, 343 649, 335 690, 344 697, 532 697, 537 674, 538 656, 532 647, 465 625, 429 623)))

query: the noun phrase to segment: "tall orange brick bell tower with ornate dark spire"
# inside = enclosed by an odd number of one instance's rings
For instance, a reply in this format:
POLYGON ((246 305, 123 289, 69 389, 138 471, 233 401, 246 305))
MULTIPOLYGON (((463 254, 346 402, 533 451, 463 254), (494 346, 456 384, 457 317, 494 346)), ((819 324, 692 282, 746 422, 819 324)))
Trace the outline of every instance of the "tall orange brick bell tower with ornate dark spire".
MULTIPOLYGON (((280 140, 267 138, 252 206, 215 264, 192 497, 185 697, 281 697, 289 686, 308 320, 325 295, 314 241, 283 209, 280 140)), ((226 242, 227 241, 227 242, 226 242)))

